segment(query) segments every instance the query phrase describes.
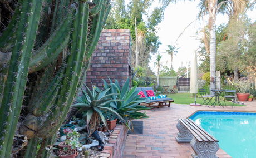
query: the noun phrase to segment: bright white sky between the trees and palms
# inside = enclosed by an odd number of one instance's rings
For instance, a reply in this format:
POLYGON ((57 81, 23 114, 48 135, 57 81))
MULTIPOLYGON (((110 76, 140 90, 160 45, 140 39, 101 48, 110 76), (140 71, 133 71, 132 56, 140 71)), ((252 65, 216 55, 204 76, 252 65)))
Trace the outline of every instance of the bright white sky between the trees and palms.
MULTIPOLYGON (((180 47, 178 53, 173 58, 173 67, 174 70, 177 70, 180 66, 188 65, 188 62, 191 60, 191 55, 194 50, 200 45, 200 41, 196 40, 196 37, 199 37, 196 32, 200 31, 203 28, 203 21, 196 19, 197 14, 199 13, 198 3, 200 0, 195 1, 180 1, 176 4, 169 4, 165 9, 164 19, 159 24, 160 30, 157 35, 161 41, 159 47, 159 53, 162 55, 161 63, 170 67, 170 55, 165 53, 165 50, 168 49, 167 45, 175 45, 180 47), (195 21, 195 22, 193 22, 195 21), (187 29, 185 29, 191 22, 193 22, 187 29), (182 36, 176 42, 179 34, 183 32, 182 36)), ((152 7, 157 6, 158 1, 155 2, 152 7)), ((248 11, 248 17, 252 21, 256 20, 256 8, 253 11, 248 11)), ((208 16, 205 17, 208 19, 208 16)), ((219 26, 222 23, 228 22, 227 15, 218 15, 216 17, 216 25, 219 26)), ((207 22, 205 22, 205 25, 207 22)), ((156 67, 154 62, 156 61, 156 55, 152 56, 149 63, 150 67, 153 67, 153 71, 156 72, 156 67)))

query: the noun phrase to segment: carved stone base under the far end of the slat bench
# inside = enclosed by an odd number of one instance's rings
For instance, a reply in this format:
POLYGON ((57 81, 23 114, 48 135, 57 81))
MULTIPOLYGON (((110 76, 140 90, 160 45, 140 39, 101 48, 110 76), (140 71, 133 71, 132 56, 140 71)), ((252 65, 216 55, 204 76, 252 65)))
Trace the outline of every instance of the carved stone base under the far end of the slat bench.
POLYGON ((179 130, 179 133, 176 136, 177 142, 190 142, 192 140, 193 135, 180 121, 178 121, 176 127, 179 130))

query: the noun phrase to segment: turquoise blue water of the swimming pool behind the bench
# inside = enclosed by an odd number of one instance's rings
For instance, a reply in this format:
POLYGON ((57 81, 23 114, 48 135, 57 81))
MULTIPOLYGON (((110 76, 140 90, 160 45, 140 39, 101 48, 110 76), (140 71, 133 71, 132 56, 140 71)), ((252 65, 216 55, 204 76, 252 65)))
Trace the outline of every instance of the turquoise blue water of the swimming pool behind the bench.
POLYGON ((256 157, 256 113, 199 111, 190 119, 218 139, 230 156, 256 157))

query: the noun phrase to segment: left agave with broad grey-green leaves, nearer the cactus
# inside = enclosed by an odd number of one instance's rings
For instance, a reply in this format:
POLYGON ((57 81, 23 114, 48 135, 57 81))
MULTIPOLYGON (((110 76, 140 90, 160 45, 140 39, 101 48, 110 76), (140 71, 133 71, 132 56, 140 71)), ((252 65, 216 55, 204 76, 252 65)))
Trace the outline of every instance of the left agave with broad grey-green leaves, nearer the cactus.
POLYGON ((77 113, 86 112, 86 124, 89 136, 99 126, 99 120, 107 127, 107 121, 103 115, 104 112, 110 112, 119 117, 120 120, 125 121, 114 109, 106 107, 111 102, 121 101, 119 99, 112 99, 116 93, 108 93, 110 88, 106 90, 99 90, 93 86, 92 91, 85 85, 86 91, 82 90, 82 95, 77 98, 76 104, 71 107, 79 108, 77 113))

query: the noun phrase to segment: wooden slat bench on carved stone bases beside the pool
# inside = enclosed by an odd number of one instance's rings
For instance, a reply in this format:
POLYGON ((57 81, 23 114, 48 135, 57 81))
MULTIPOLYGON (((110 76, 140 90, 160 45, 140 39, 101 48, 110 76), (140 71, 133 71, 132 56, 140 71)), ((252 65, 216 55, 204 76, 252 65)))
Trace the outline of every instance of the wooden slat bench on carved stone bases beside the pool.
POLYGON ((191 119, 178 119, 177 129, 179 133, 176 137, 177 142, 190 142, 196 158, 216 158, 219 150, 218 140, 208 132, 195 124, 191 119))

